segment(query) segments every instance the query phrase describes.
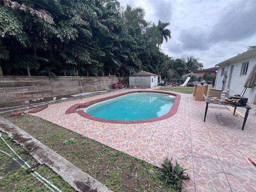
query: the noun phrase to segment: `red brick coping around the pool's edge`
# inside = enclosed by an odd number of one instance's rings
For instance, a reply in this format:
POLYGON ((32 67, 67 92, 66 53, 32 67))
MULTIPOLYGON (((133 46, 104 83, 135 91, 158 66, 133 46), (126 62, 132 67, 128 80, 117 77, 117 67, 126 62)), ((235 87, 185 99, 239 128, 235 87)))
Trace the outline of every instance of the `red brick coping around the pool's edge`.
POLYGON ((164 119, 167 119, 167 118, 170 118, 170 117, 174 116, 174 114, 176 114, 176 112, 178 110, 179 104, 180 104, 180 95, 179 94, 172 93, 172 92, 167 92, 167 91, 140 90, 140 91, 130 91, 130 92, 125 92, 125 93, 120 93, 120 94, 116 94, 116 95, 113 95, 113 96, 108 96, 108 97, 92 100, 92 101, 89 101, 89 102, 86 102, 86 103, 83 103, 83 104, 75 104, 75 105, 71 106, 70 108, 68 108, 66 110, 65 114, 77 113, 77 114, 79 114, 80 116, 82 116, 84 118, 94 120, 94 121, 99 121, 99 122, 106 122, 106 123, 116 123, 116 124, 148 123, 148 122, 155 122, 155 121, 164 120, 164 119), (152 118, 152 119, 144 119, 144 120, 124 121, 124 120, 102 119, 102 118, 91 116, 91 115, 87 114, 86 112, 84 112, 83 110, 77 111, 79 108, 87 108, 88 106, 91 106, 91 105, 96 104, 98 102, 106 101, 106 100, 116 98, 116 97, 119 97, 119 96, 131 94, 131 93, 146 93, 146 92, 163 93, 163 94, 174 95, 174 96, 176 96, 176 99, 175 99, 174 103, 172 104, 172 107, 171 107, 170 111, 167 114, 165 114, 161 117, 156 117, 156 118, 152 118))

